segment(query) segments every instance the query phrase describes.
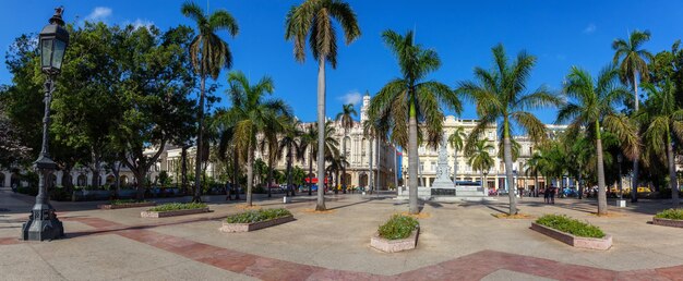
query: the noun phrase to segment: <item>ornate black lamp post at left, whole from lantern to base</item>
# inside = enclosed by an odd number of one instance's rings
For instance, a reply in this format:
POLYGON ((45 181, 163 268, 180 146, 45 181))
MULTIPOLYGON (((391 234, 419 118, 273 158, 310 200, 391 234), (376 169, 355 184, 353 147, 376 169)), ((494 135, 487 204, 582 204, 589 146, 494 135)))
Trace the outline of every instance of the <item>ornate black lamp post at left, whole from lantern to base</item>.
POLYGON ((62 20, 63 8, 55 9, 55 15, 50 17, 49 25, 40 32, 40 65, 47 74, 45 82, 45 117, 43 118, 43 148, 40 156, 34 162, 38 171, 38 195, 33 206, 28 221, 22 227, 22 239, 32 241, 53 240, 64 236, 64 228, 55 215, 55 208, 50 205, 47 195, 47 185, 50 174, 57 164, 50 159, 48 149, 48 127, 50 124, 50 102, 55 90, 55 76, 59 74, 64 52, 69 45, 69 33, 64 29, 62 20))

